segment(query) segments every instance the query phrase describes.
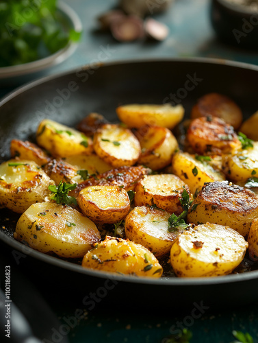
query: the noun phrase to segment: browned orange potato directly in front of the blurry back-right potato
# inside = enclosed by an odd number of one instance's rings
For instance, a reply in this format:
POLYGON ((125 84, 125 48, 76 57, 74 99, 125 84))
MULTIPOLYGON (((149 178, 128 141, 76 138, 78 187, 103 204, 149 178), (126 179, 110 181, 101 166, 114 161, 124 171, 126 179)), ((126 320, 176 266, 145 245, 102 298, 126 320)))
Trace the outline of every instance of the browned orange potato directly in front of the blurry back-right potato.
POLYGON ((198 154, 220 155, 242 147, 233 127, 211 116, 192 121, 188 128, 188 141, 198 154))

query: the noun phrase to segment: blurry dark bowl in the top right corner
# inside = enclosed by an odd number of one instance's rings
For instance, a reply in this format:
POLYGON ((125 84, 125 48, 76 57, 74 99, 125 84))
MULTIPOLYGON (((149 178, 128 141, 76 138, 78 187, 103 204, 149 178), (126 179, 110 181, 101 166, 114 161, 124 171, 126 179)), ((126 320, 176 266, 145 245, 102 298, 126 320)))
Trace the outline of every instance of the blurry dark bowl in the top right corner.
POLYGON ((225 43, 258 49, 258 12, 229 0, 211 1, 211 23, 225 43))

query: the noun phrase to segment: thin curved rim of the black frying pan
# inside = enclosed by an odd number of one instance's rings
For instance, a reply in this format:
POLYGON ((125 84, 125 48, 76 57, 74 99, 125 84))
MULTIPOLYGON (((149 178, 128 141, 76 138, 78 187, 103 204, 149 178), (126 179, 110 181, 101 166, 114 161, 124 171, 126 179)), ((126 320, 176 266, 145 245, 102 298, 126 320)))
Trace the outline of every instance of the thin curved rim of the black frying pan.
MULTIPOLYGON (((29 91, 31 88, 35 86, 40 86, 40 84, 44 84, 46 82, 55 80, 57 78, 62 78, 66 75, 74 75, 76 72, 81 70, 86 70, 92 68, 96 65, 99 67, 109 67, 109 66, 116 66, 117 64, 138 64, 138 63, 149 63, 149 62, 191 62, 191 63, 198 63, 198 64, 216 64, 216 65, 226 65, 229 67, 237 67, 240 69, 248 69, 258 71, 258 66, 255 64, 248 64, 244 62, 235 62, 231 60, 223 60, 223 59, 216 59, 216 58, 149 58, 148 60, 144 60, 143 58, 137 59, 129 59, 129 60, 113 60, 111 62, 99 62, 96 64, 85 64, 79 66, 77 68, 71 69, 69 71, 64 71, 61 73, 55 73, 53 75, 48 75, 38 80, 34 80, 33 82, 29 82, 23 86, 20 86, 11 93, 8 93, 0 100, 0 108, 5 103, 9 102, 14 97, 29 91)), ((18 250, 20 252, 25 253, 26 257, 34 257, 35 259, 39 259, 42 262, 50 263, 55 265, 56 267, 70 270, 72 272, 79 272, 80 274, 85 274, 86 276, 93 276, 100 279, 111 279, 116 281, 122 281, 126 283, 140 283, 142 285, 162 285, 162 286, 203 286, 203 285, 216 285, 216 284, 225 284, 225 283, 235 283, 235 282, 242 282, 248 281, 253 279, 258 279, 258 270, 245 272, 242 274, 229 274, 225 276, 216 276, 210 278, 170 278, 170 279, 151 279, 151 278, 143 278, 143 277, 136 277, 136 276, 127 276, 127 275, 120 275, 120 274, 113 274, 109 272, 101 272, 98 270, 90 270, 87 268, 81 267, 81 265, 77 265, 75 263, 64 261, 62 259, 57 259, 56 257, 52 257, 46 255, 42 252, 34 250, 26 246, 27 253, 25 252, 25 246, 20 242, 12 239, 5 233, 0 232, 0 239, 8 246, 14 248, 14 250, 18 250)))

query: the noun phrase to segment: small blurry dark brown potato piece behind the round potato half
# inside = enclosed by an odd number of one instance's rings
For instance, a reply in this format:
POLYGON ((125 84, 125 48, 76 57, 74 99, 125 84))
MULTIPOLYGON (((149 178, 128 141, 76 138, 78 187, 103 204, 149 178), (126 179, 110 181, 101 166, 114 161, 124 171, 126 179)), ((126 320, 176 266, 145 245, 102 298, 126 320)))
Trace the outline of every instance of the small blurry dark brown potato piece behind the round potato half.
POLYGON ((83 118, 77 125, 77 130, 83 132, 88 137, 92 137, 98 128, 101 128, 108 121, 99 115, 99 113, 90 113, 87 117, 83 118))

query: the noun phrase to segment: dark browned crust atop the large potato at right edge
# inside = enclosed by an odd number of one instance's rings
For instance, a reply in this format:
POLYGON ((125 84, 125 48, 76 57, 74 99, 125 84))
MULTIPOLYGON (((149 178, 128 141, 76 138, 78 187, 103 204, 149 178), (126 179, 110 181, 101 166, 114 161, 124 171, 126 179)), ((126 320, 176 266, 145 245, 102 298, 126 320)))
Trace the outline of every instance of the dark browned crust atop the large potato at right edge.
POLYGON ((209 182, 204 185, 201 192, 198 193, 196 201, 213 204, 217 211, 224 209, 242 214, 258 207, 258 196, 253 191, 233 185, 229 181, 209 182))

